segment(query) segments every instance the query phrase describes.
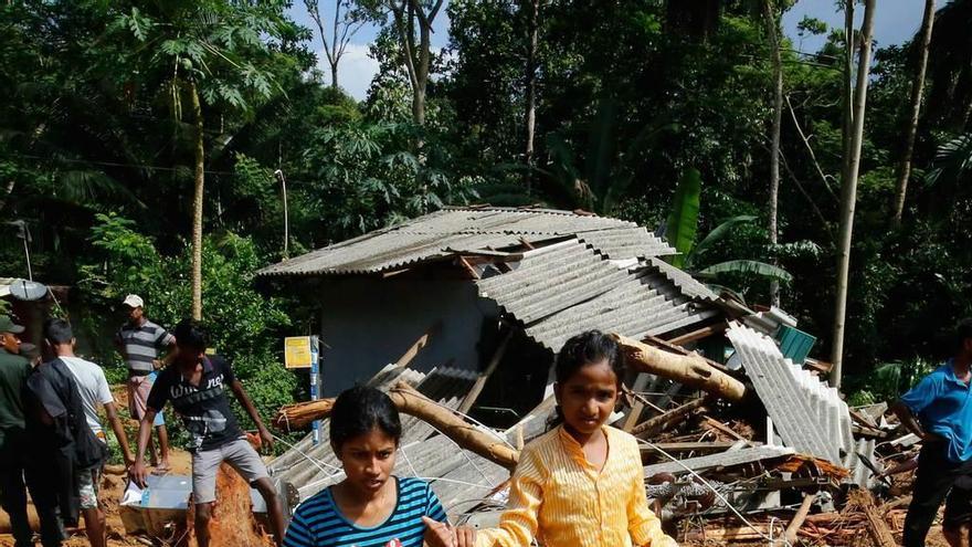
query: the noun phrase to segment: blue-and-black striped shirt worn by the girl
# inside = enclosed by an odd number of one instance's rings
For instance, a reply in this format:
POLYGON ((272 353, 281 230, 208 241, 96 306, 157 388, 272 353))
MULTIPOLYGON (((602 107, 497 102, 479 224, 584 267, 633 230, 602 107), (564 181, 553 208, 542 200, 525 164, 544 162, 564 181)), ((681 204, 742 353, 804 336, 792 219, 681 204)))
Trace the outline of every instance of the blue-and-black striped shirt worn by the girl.
POLYGON ((445 522, 445 511, 429 483, 399 478, 398 502, 388 519, 357 526, 341 514, 330 488, 302 503, 284 536, 284 547, 422 547, 422 517, 445 522))

